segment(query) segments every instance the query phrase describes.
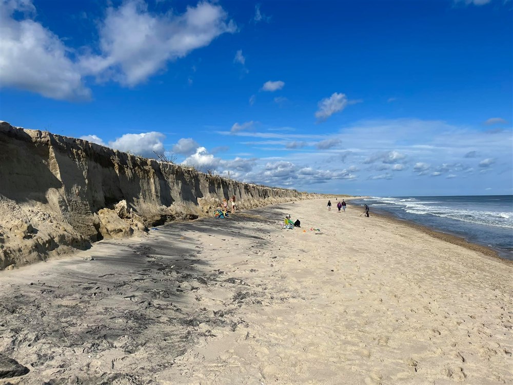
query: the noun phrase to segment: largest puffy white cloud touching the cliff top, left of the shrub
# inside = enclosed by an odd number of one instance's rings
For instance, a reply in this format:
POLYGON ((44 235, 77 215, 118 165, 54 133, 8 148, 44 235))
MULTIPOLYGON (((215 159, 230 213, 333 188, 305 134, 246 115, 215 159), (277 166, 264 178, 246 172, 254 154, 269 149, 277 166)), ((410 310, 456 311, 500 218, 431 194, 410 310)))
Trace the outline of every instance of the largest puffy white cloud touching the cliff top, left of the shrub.
POLYGON ((161 132, 126 133, 121 138, 109 142, 109 147, 120 151, 130 151, 146 158, 154 158, 164 152, 162 141, 166 136, 161 132))

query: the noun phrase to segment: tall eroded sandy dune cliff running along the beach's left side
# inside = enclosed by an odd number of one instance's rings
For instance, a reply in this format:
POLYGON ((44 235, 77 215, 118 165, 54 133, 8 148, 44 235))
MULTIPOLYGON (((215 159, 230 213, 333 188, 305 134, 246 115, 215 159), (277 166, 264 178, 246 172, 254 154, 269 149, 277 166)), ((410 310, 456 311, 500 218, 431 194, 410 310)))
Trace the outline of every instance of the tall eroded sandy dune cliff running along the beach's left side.
POLYGON ((232 195, 241 209, 313 196, 1 122, 0 269, 206 216, 232 195))

